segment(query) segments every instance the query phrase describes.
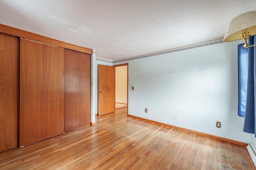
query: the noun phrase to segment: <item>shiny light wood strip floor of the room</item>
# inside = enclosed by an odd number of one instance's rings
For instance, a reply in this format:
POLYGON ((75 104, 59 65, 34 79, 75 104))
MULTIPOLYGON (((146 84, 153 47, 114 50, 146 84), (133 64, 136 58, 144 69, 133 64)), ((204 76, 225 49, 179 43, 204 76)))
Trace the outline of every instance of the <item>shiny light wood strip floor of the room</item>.
POLYGON ((126 116, 0 153, 6 169, 255 170, 246 147, 126 116))

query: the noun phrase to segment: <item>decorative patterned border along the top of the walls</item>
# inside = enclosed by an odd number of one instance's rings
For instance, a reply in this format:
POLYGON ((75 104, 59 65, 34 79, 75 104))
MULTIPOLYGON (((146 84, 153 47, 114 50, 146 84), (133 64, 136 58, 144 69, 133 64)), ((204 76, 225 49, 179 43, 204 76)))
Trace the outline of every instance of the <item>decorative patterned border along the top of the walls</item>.
POLYGON ((155 56, 155 55, 173 53, 173 52, 177 52, 177 51, 194 49, 194 48, 197 48, 197 47, 204 47, 204 46, 207 46, 207 45, 214 45, 214 44, 218 44, 218 43, 224 43, 223 39, 217 39, 217 40, 214 40, 214 41, 208 41, 208 42, 204 42, 204 43, 198 43, 198 44, 194 44, 194 45, 188 45, 188 46, 184 46, 184 47, 178 47, 178 48, 174 48, 174 49, 168 49, 168 50, 164 50, 164 51, 158 51, 158 52, 154 52, 154 53, 138 55, 138 56, 135 56, 135 57, 129 57, 129 58, 126 58, 126 59, 120 59, 120 60, 114 60, 114 61, 107 60, 107 59, 102 59, 102 58, 97 58, 97 57, 96 57, 96 60, 106 61, 106 62, 110 62, 110 63, 118 63, 118 62, 121 62, 121 61, 141 59, 141 58, 144 58, 144 57, 151 57, 151 56, 155 56))

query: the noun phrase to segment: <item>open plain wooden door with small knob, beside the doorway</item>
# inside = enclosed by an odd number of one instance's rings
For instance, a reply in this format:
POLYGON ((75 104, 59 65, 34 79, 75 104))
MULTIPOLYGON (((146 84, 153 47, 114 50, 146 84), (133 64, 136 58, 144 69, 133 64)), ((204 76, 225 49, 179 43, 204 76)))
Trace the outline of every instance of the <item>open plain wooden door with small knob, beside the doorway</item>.
POLYGON ((98 65, 98 115, 115 111, 115 67, 98 65))

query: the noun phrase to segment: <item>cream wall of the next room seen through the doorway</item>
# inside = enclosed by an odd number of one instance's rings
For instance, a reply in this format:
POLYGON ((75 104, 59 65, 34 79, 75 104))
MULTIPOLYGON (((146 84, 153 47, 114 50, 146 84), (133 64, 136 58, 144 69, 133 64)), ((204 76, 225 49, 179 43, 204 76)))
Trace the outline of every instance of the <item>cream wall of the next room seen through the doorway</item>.
POLYGON ((127 104, 127 66, 116 66, 116 102, 127 104))

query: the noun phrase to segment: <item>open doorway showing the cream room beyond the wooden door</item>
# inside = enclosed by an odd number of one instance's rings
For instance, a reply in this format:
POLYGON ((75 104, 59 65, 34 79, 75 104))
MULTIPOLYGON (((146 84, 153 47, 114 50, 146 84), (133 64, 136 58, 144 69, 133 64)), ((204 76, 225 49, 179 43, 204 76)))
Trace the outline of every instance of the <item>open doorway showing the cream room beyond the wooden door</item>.
POLYGON ((116 85, 116 109, 128 107, 128 63, 114 65, 116 85))

